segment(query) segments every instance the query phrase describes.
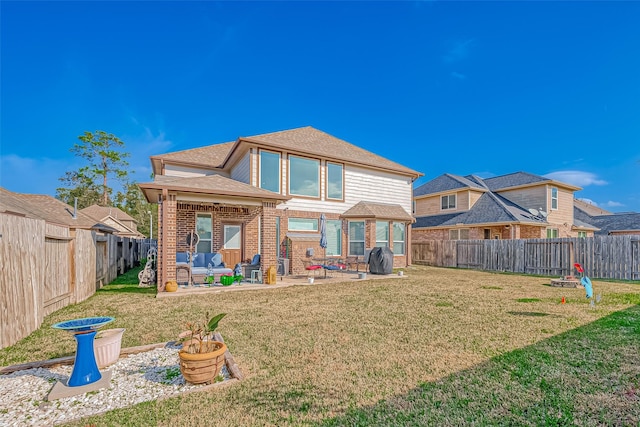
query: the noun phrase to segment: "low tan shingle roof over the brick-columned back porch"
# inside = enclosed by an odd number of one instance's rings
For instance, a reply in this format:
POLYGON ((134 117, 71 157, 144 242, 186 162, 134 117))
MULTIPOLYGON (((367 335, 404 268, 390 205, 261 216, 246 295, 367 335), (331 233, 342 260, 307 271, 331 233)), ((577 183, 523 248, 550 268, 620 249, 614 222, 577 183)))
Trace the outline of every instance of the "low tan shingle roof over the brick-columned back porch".
MULTIPOLYGON (((250 197, 271 200, 289 200, 290 197, 274 193, 269 190, 254 187, 244 182, 226 178, 222 175, 208 175, 198 177, 173 177, 156 176, 154 182, 138 184, 142 191, 161 190, 167 188, 172 191, 184 191, 189 193, 204 193, 221 196, 250 197)), ((153 198, 148 198, 153 200, 153 198)))

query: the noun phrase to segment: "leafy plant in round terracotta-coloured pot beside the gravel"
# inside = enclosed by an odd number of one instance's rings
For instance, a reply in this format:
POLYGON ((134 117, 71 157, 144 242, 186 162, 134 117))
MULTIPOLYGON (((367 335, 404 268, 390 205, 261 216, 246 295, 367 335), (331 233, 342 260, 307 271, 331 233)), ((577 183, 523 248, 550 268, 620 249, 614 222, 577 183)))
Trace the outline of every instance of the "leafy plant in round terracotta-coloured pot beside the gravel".
MULTIPOLYGON (((188 330, 180 334, 180 372, 186 381, 192 384, 210 383, 220 373, 227 346, 215 340, 214 332, 224 316, 226 313, 220 313, 203 323, 187 323, 188 330)), ((209 317, 209 313, 206 317, 209 317)))

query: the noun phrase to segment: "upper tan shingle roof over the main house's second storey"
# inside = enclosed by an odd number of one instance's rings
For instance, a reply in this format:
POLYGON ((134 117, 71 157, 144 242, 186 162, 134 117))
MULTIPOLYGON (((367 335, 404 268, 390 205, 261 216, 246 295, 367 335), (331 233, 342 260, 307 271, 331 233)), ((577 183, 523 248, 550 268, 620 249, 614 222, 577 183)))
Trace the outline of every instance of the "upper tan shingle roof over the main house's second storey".
POLYGON ((336 162, 388 170, 414 178, 422 176, 420 172, 402 166, 399 163, 331 136, 311 126, 240 137, 235 142, 226 142, 224 144, 214 144, 159 156, 151 156, 151 162, 156 174, 160 173, 161 164, 167 162, 182 163, 195 167, 224 169, 229 165, 229 160, 233 155, 241 151, 242 147, 246 144, 291 153, 315 155, 335 160, 336 162))

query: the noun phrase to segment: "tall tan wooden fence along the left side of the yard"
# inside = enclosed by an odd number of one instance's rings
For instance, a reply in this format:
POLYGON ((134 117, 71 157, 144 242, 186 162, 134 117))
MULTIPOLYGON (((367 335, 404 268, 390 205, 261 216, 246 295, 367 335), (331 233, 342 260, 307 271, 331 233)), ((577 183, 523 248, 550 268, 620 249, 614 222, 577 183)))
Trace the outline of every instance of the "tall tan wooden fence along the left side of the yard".
POLYGON ((0 348, 132 268, 140 249, 134 239, 0 214, 0 348))

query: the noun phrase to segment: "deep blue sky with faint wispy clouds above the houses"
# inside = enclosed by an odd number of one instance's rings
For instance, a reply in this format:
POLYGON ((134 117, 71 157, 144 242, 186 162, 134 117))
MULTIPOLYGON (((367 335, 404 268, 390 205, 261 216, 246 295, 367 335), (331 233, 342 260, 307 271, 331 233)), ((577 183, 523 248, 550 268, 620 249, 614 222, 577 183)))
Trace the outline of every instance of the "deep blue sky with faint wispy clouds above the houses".
POLYGON ((420 171, 640 211, 640 2, 0 2, 0 186, 85 131, 149 156, 301 126, 420 171))

